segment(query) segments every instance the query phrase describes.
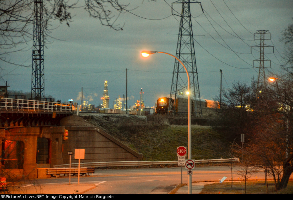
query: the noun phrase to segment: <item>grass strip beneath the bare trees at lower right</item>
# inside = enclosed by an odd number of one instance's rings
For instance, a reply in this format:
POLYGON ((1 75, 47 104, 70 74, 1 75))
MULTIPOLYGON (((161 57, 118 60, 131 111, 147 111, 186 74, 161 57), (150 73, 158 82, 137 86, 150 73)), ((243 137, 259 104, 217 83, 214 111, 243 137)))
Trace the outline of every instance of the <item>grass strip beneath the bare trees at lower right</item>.
MULTIPOLYGON (((245 194, 244 182, 231 182, 207 184, 200 194, 245 194)), ((248 181, 246 194, 293 194, 293 181, 289 181, 286 189, 275 191, 275 184, 268 182, 268 191, 264 181, 248 181)))

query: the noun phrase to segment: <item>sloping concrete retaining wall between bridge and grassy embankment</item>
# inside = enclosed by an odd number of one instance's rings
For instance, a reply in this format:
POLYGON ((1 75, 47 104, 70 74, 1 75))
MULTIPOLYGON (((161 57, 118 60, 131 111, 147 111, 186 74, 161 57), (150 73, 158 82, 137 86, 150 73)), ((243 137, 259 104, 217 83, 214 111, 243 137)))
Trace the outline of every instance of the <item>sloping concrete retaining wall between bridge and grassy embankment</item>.
MULTIPOLYGON (((74 152, 74 149, 85 149, 85 159, 81 162, 142 160, 142 154, 79 116, 73 115, 62 119, 61 126, 68 130, 68 140, 63 141, 63 164, 69 163, 67 151, 74 152)), ((71 156, 71 163, 76 162, 78 160, 71 156)))

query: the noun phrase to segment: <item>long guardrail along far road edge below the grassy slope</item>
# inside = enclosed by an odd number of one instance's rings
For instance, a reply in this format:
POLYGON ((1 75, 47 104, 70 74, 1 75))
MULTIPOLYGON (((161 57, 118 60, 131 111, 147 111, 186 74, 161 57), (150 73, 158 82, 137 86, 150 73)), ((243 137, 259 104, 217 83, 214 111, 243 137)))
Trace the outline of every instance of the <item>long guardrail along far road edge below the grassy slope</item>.
MULTIPOLYGON (((211 160, 195 160, 195 163, 203 162, 239 162, 239 158, 228 159, 211 159, 211 160)), ((178 164, 175 161, 118 161, 118 162, 85 162, 80 163, 82 167, 127 167, 127 166, 144 166, 144 165, 173 165, 178 164)), ((54 167, 67 167, 69 164, 54 165, 54 167)), ((71 163, 71 166, 78 166, 78 163, 71 163)))

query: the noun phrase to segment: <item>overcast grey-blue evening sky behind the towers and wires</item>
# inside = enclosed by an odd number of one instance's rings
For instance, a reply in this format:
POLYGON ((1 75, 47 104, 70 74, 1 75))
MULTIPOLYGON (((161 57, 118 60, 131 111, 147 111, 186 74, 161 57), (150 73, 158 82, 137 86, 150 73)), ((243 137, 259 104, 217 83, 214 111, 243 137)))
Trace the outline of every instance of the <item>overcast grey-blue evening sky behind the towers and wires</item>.
MULTIPOLYGON (((170 6, 174 1, 166 0, 170 6)), ((113 108, 118 95, 126 94, 126 68, 128 105, 140 98, 140 88, 144 91, 145 105, 149 107, 155 106, 159 97, 170 93, 174 59, 165 54, 144 59, 140 52, 156 50, 175 55, 180 18, 171 16, 171 7, 163 0, 121 2, 130 2, 128 9, 143 17, 128 12, 121 14, 116 23, 125 23, 122 31, 102 26, 99 20, 89 18, 83 9, 71 11, 75 16, 70 27, 59 22, 53 24, 60 25, 52 33, 60 40, 54 40, 45 48, 45 95, 62 101, 73 99, 81 104, 83 87, 84 99, 97 106, 102 103, 100 98, 107 80, 109 107, 113 108), (165 19, 150 20, 161 18, 165 19)), ((259 58, 259 52, 253 50, 250 53, 250 46, 256 45, 253 33, 257 30, 268 30, 272 40, 265 43, 275 47, 274 53, 271 48, 266 49, 265 58, 272 60, 272 67, 267 70, 280 70, 283 52, 280 37, 287 25, 293 23, 292 0, 213 0, 201 3, 205 13, 202 14, 199 4, 192 4, 191 15, 202 99, 212 100, 219 95, 220 69, 225 88, 231 87, 234 81, 250 82, 253 76, 257 78, 258 69, 253 68, 252 63, 259 58)), ((173 9, 181 10, 178 6, 173 9)), ((31 50, 9 56, 24 65, 32 63, 31 50)), ((31 67, 16 67, 3 62, 0 65, 5 81, 8 72, 9 89, 31 91, 31 67)))

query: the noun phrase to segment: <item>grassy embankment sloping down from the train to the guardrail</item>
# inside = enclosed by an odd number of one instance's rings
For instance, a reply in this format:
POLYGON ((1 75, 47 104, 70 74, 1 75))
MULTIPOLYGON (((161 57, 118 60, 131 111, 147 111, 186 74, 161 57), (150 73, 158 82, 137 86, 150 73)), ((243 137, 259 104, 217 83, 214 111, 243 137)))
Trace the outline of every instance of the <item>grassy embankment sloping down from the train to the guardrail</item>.
MULTIPOLYGON (((182 118, 174 120, 161 115, 148 116, 147 119, 98 116, 84 118, 142 153, 146 161, 177 160, 177 147, 188 147, 188 126, 170 125, 170 121, 176 121, 177 124, 187 123, 182 118)), ((228 158, 228 149, 229 141, 212 127, 192 125, 193 159, 228 158)))

